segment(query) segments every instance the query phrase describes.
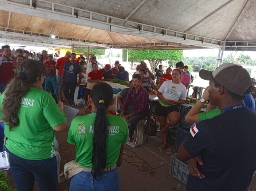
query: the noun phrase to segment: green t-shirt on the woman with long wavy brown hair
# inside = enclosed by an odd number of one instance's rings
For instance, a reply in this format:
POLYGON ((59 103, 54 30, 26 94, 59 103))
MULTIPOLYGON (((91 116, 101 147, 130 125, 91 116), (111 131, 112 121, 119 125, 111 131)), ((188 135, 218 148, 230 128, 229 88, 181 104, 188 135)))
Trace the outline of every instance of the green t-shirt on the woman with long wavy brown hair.
MULTIPOLYGON (((0 96, 0 119, 5 92, 0 96)), ((50 93, 31 87, 21 99, 19 125, 11 128, 5 123, 6 147, 24 159, 42 160, 54 157, 55 131, 52 127, 66 121, 50 93)))

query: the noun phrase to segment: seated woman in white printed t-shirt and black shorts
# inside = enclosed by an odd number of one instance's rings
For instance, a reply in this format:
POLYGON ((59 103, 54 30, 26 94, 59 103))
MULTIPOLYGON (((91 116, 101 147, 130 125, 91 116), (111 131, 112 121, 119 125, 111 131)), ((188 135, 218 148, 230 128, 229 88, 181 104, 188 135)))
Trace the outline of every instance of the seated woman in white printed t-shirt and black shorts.
POLYGON ((186 101, 187 89, 180 83, 181 72, 179 69, 172 71, 172 80, 165 81, 157 92, 158 102, 156 103, 156 115, 159 117, 163 144, 159 150, 167 147, 167 129, 179 123, 180 117, 177 104, 186 101), (169 122, 167 122, 167 118, 169 122))

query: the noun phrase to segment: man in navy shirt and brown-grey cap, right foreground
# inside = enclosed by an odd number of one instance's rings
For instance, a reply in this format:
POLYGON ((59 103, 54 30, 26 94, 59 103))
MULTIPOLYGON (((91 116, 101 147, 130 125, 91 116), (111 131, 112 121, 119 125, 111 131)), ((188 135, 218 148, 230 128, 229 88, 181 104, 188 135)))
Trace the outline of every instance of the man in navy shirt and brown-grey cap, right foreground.
POLYGON ((247 191, 256 170, 256 115, 243 102, 250 75, 223 63, 199 76, 210 81, 209 100, 221 114, 194 124, 179 147, 178 158, 189 165, 187 191, 247 191))

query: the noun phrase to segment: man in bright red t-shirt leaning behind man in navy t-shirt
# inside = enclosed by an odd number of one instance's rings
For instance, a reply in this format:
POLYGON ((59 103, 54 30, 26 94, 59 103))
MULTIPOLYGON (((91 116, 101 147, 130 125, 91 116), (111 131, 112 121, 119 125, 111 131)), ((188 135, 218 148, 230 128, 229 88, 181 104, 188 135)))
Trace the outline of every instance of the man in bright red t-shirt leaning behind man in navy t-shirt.
POLYGON ((69 62, 71 57, 71 52, 67 51, 64 57, 61 57, 57 60, 55 68, 58 69, 58 93, 59 93, 59 100, 61 101, 62 96, 62 84, 61 84, 61 73, 63 69, 63 65, 65 62, 69 62))

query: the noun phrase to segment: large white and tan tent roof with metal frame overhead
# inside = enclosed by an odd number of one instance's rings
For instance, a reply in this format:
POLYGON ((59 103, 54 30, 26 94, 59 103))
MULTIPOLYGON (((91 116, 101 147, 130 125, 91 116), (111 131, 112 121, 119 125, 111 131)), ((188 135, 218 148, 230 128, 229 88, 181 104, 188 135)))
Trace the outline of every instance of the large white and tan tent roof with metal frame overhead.
POLYGON ((33 2, 0 0, 0 34, 19 30, 126 49, 256 47, 255 0, 36 0, 35 9, 33 2))

